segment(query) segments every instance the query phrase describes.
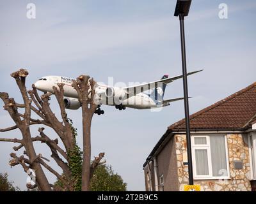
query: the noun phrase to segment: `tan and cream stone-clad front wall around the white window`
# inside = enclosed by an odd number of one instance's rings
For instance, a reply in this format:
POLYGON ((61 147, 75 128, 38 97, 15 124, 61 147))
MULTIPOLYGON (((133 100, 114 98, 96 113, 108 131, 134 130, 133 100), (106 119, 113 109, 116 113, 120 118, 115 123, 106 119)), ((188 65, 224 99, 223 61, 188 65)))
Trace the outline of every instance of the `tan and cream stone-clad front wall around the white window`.
MULTIPOLYGON (((210 135, 211 136, 211 135, 210 135)), ((201 191, 251 191, 250 159, 248 145, 241 134, 227 134, 230 179, 195 180, 201 191), (235 170, 233 161, 243 161, 243 170, 235 170)), ((175 135, 179 190, 188 184, 188 165, 183 164, 183 154, 187 152, 186 135, 175 135)))

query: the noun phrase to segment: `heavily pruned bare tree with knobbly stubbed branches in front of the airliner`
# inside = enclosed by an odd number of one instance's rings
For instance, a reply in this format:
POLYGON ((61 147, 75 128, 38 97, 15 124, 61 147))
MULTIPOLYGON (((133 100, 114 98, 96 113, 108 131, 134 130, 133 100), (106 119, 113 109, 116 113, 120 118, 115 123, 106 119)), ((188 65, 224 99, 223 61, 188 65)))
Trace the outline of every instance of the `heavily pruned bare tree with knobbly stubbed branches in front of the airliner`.
POLYGON ((104 157, 104 153, 100 153, 98 157, 95 157, 91 163, 91 124, 93 113, 95 112, 97 105, 94 103, 93 98, 95 96, 96 82, 89 76, 81 75, 73 82, 74 89, 76 89, 79 96, 79 101, 82 106, 83 117, 83 152, 79 150, 76 143, 76 129, 72 126, 72 120, 67 117, 64 103, 64 86, 65 84, 58 84, 57 87, 52 87, 53 92, 47 92, 42 96, 39 96, 36 91, 35 85, 32 85, 32 89, 27 91, 26 89, 26 77, 28 76, 26 69, 19 69, 11 74, 15 79, 19 91, 22 95, 22 103, 17 103, 15 99, 10 98, 6 92, 0 92, 0 98, 4 103, 4 110, 6 110, 15 126, 0 129, 0 132, 12 131, 13 129, 19 129, 22 135, 21 138, 0 138, 0 142, 12 142, 18 143, 18 146, 13 147, 13 150, 18 151, 24 148, 24 154, 17 156, 15 153, 11 153, 12 160, 10 166, 16 166, 20 164, 25 172, 29 169, 33 169, 36 174, 36 184, 33 186, 27 185, 29 189, 38 187, 40 191, 52 191, 53 184, 49 183, 49 180, 45 176, 44 168, 50 171, 53 175, 60 180, 65 191, 77 191, 81 187, 83 191, 90 190, 90 179, 92 178, 92 172, 100 164, 100 160, 104 157), (60 107, 60 119, 52 111, 49 99, 52 94, 56 97, 58 105, 60 107), (20 109, 24 113, 20 112, 20 109), (31 112, 36 114, 36 118, 31 117, 31 112), (38 128, 38 136, 31 135, 31 126, 42 125, 38 128), (52 140, 51 136, 45 134, 44 129, 53 129, 58 138, 52 140), (59 144, 59 140, 63 143, 63 147, 59 144), (42 142, 51 150, 51 157, 56 164, 60 166, 62 172, 58 173, 51 165, 48 164, 49 159, 45 158, 42 154, 36 154, 34 142, 42 142), (77 176, 77 171, 74 172, 74 158, 81 158, 82 172, 77 176), (79 186, 79 179, 81 179, 81 185, 79 186), (77 187, 78 186, 78 187, 77 187))

